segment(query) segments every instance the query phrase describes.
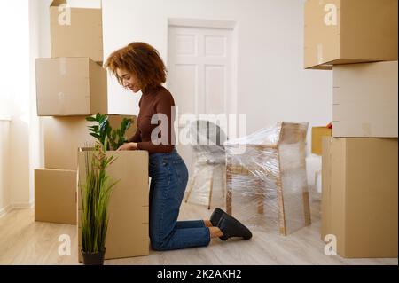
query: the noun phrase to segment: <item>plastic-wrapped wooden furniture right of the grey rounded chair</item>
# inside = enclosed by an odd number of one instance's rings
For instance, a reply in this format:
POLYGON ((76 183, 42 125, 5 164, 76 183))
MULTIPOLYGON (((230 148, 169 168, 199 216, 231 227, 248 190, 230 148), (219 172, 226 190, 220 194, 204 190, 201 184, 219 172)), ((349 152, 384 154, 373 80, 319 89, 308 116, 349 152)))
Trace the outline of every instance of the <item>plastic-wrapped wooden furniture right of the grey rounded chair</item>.
POLYGON ((229 214, 233 211, 232 194, 239 192, 238 197, 255 195, 257 201, 252 206, 257 206, 257 213, 278 212, 283 235, 310 224, 305 161, 308 127, 309 123, 278 122, 225 143, 229 214), (266 201, 273 196, 276 201, 266 201), (265 209, 265 205, 276 207, 265 209))

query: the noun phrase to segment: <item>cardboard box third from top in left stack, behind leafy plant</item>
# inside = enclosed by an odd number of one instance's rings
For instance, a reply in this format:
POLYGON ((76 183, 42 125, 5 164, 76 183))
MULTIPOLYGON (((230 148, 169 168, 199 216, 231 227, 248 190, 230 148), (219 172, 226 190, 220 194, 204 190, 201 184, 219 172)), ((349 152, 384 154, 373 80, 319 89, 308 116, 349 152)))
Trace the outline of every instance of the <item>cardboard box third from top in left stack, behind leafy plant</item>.
MULTIPOLYGON (((137 130, 136 116, 109 115, 111 127, 121 127, 122 119, 133 120, 125 138, 130 138, 137 130)), ((78 167, 77 150, 79 147, 92 146, 96 138, 90 136, 88 127, 93 122, 87 122, 84 116, 44 117, 44 167, 49 169, 73 169, 78 167)))

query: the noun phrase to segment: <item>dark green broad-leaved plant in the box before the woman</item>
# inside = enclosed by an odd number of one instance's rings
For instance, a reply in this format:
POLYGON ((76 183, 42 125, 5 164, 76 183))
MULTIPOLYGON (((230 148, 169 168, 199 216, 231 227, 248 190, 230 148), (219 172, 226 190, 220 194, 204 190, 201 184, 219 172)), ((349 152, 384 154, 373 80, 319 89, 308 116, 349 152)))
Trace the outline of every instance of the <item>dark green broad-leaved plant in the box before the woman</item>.
POLYGON ((108 121, 108 115, 96 114, 86 118, 89 122, 97 122, 96 125, 90 126, 90 136, 97 138, 101 145, 106 145, 106 150, 117 150, 126 142, 126 131, 131 125, 131 119, 123 118, 121 127, 113 130, 108 121))

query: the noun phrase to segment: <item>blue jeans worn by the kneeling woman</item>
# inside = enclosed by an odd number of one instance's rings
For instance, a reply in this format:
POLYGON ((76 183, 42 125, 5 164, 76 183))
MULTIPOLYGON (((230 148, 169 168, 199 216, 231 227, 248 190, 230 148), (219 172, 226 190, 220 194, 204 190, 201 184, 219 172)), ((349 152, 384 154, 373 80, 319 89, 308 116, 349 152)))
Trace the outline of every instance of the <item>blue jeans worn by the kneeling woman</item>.
POLYGON ((177 221, 188 170, 174 149, 150 154, 150 240, 154 250, 205 247, 210 242, 204 221, 177 221))

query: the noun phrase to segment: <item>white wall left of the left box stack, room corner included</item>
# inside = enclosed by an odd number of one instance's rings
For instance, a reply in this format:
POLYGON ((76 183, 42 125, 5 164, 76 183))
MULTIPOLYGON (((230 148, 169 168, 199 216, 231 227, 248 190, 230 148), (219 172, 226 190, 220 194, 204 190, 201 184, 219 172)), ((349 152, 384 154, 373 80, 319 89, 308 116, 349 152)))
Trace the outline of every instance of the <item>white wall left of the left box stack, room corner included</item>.
POLYGON ((15 38, 1 45, 7 68, 2 68, 0 98, 2 103, 9 98, 7 115, 11 121, 1 122, 0 129, 0 214, 9 208, 30 207, 35 198, 34 169, 43 163, 40 121, 35 109, 35 58, 50 55, 50 3, 51 0, 20 1, 0 11, 4 28, 1 34, 15 38))

